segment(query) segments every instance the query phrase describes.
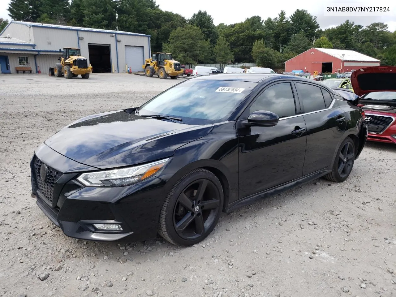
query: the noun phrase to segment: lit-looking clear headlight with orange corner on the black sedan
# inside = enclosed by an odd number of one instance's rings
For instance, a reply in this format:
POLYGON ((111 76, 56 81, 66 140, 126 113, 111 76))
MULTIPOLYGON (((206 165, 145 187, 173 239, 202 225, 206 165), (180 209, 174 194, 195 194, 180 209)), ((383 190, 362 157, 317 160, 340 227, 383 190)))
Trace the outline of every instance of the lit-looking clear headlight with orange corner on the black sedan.
POLYGON ((163 168, 171 158, 120 169, 82 173, 77 180, 86 187, 120 187, 147 179, 163 168))

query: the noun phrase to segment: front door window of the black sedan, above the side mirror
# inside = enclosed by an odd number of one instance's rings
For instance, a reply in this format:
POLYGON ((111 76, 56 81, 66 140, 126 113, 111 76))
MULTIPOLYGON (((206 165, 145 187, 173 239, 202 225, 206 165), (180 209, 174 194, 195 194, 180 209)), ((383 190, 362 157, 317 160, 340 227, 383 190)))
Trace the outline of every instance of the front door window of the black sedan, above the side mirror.
POLYGON ((279 118, 295 116, 295 101, 290 83, 283 82, 265 89, 249 108, 250 113, 257 110, 274 112, 279 118))

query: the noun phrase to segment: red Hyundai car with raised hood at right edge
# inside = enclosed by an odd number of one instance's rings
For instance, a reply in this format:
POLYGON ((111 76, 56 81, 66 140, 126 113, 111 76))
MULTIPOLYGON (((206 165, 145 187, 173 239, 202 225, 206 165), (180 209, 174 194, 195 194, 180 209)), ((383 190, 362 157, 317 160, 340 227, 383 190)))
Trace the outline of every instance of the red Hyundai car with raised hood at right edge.
POLYGON ((358 69, 350 79, 365 113, 367 140, 396 144, 396 67, 358 69))

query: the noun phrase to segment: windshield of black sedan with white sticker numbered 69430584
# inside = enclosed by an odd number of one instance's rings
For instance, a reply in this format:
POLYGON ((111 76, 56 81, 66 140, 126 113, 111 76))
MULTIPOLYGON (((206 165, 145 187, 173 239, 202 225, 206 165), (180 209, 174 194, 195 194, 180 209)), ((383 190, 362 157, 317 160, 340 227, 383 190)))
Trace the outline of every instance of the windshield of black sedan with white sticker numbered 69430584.
POLYGON ((191 125, 224 122, 256 85, 230 80, 187 80, 143 104, 138 112, 140 116, 173 116, 191 125))

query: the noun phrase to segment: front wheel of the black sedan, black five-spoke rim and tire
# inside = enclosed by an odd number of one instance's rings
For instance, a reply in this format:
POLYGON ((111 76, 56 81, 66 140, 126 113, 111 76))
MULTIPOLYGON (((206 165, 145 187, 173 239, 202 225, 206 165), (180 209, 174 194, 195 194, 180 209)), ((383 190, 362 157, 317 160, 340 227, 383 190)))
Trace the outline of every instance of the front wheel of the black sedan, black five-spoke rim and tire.
POLYGON ((223 197, 223 187, 210 171, 198 168, 186 173, 166 195, 158 233, 177 246, 204 240, 219 221, 223 197))

